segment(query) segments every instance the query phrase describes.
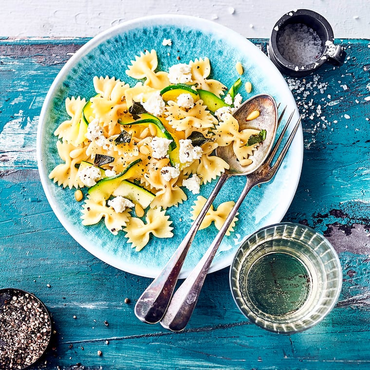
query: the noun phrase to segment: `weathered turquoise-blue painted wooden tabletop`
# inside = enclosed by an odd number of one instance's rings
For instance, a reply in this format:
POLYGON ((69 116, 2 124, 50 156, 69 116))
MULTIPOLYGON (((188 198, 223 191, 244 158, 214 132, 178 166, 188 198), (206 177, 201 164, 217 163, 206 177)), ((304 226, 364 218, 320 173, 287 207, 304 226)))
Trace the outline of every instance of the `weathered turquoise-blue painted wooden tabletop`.
MULTIPOLYGON (((133 307, 151 280, 94 258, 57 221, 37 172, 37 122, 56 74, 86 41, 0 40, 0 288, 33 292, 55 323, 33 369, 369 369, 370 41, 337 40, 343 66, 287 77, 303 117, 304 161, 284 221, 324 234, 344 277, 333 312, 294 335, 249 323, 228 269, 206 278, 184 332, 141 323, 133 307)), ((266 40, 253 41, 266 51, 266 40)))

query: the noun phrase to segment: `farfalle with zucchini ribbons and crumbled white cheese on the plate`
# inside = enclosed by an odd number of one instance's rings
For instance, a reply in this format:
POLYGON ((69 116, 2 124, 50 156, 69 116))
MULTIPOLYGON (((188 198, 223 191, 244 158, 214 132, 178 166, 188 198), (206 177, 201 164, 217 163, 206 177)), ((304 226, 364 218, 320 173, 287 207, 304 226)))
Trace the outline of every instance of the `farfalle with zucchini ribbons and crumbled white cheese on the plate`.
MULTIPOLYGON (((236 92, 241 81, 226 92, 221 81, 209 78, 207 57, 158 71, 155 50, 147 50, 130 63, 126 74, 136 83, 95 76, 95 94, 66 99, 70 118, 54 132, 62 163, 49 177, 83 191, 83 225, 104 222, 111 234, 125 233, 140 251, 150 238, 176 232, 168 208, 229 168, 215 150, 232 145, 238 160, 249 163, 258 143, 248 145, 248 139, 259 130, 239 131, 231 113, 241 102, 236 92)), ((204 203, 198 197, 192 219, 204 203)), ((233 205, 211 206, 201 227, 220 229, 233 205)))

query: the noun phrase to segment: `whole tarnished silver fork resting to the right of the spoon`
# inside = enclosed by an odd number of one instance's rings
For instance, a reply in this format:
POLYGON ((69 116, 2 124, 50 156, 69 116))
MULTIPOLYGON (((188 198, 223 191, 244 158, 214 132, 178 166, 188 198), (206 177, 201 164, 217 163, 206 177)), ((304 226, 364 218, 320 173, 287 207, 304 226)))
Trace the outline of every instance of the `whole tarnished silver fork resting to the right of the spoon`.
MULTIPOLYGON (((235 203, 230 214, 226 218, 222 228, 217 234, 215 240, 205 252, 203 258, 198 262, 195 268, 191 271, 189 276, 184 280, 179 289, 172 296, 170 303, 167 307, 166 313, 161 319, 161 325, 174 332, 182 331, 188 323, 191 314, 198 301, 199 294, 203 287, 204 279, 207 275, 211 262, 216 254, 216 251, 221 243, 223 236, 233 221, 238 212, 240 204, 243 202, 248 192, 256 185, 269 182, 276 174, 285 154, 290 147, 292 140, 296 134, 296 130, 300 124, 301 118, 299 117, 295 127, 291 131, 286 144, 283 145, 280 154, 277 156, 275 163, 272 165, 277 151, 281 145, 285 132, 293 118, 294 112, 290 115, 289 119, 282 132, 280 133, 277 143, 271 150, 265 162, 255 171, 248 175, 247 183, 240 194, 238 201, 235 203)), ((281 117, 280 117, 281 118, 281 117)))

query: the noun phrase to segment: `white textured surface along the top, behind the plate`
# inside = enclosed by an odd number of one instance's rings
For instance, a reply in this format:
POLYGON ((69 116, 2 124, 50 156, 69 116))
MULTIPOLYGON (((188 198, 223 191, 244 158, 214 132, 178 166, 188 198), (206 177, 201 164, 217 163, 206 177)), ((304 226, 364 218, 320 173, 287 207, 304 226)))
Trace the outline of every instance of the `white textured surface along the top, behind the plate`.
POLYGON ((170 13, 268 38, 293 9, 324 16, 335 38, 370 38, 370 0, 0 0, 0 37, 93 37, 126 20, 170 13))

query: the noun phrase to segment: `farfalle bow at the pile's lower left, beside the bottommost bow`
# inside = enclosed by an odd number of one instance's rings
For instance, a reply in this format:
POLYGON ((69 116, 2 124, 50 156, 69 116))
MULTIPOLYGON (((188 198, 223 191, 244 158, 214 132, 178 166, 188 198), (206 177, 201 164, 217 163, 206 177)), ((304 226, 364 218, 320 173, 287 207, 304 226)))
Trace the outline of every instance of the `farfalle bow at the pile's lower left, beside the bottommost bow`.
POLYGON ((82 206, 82 224, 93 225, 104 218, 107 229, 113 234, 117 235, 118 231, 122 230, 129 221, 129 208, 123 212, 115 212, 113 207, 108 207, 104 199, 100 201, 93 201, 89 196, 82 206))

